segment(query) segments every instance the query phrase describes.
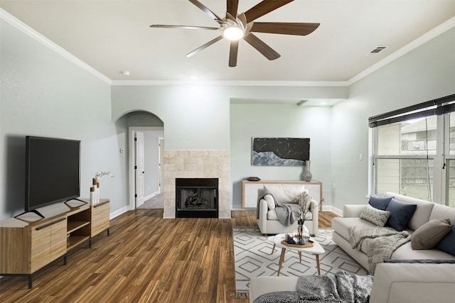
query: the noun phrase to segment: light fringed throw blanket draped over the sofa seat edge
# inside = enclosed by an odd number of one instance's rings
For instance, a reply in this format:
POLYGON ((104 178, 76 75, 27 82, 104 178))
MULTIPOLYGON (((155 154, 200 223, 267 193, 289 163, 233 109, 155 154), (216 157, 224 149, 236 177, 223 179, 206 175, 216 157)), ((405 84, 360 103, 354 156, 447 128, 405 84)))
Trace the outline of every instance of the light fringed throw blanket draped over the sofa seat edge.
POLYGON ((395 231, 385 227, 358 228, 348 227, 349 243, 352 248, 360 250, 363 240, 370 238, 367 243, 368 273, 374 275, 376 265, 385 259, 390 259, 392 253, 403 244, 411 241, 407 231, 395 231))

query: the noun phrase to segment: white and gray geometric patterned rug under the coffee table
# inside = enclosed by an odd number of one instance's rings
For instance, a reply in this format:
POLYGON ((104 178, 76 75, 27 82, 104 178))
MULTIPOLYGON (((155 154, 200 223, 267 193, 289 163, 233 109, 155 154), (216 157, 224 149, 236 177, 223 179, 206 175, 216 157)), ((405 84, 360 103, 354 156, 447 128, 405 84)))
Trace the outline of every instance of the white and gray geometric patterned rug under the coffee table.
MULTIPOLYGON (((259 232, 258 228, 233 228, 235 260, 235 292, 237 298, 247 298, 250 278, 257 276, 276 276, 278 273, 281 248, 259 232)), ((340 270, 357 275, 367 275, 367 271, 353 258, 350 258, 332 241, 333 229, 320 228, 314 237, 326 250, 319 255, 321 275, 333 275, 340 270)), ((317 275, 316 257, 309 253, 299 254, 287 250, 279 276, 317 275)))

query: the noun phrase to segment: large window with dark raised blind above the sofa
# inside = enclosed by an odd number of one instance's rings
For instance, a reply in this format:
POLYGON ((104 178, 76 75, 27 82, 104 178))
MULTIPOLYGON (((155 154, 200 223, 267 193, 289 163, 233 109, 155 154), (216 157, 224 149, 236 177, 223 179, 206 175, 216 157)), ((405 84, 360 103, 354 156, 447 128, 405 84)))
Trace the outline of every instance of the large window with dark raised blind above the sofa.
POLYGON ((455 206, 455 95, 370 118, 373 188, 455 206))

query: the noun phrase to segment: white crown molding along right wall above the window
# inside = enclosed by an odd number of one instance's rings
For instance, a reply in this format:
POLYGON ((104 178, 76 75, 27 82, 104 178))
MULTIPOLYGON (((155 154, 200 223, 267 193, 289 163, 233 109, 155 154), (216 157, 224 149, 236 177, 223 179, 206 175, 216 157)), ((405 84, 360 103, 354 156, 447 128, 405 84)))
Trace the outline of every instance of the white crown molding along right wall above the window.
POLYGON ((408 43, 407 45, 403 46, 402 48, 395 51, 394 53, 388 55, 387 57, 380 60, 376 64, 371 65, 366 70, 363 70, 363 72, 358 73, 358 75, 355 75, 354 77, 350 78, 347 81, 348 85, 358 82, 360 79, 365 78, 366 76, 370 75, 371 73, 375 72, 376 70, 379 70, 381 67, 384 67, 385 65, 394 61, 395 59, 401 57, 402 55, 405 55, 406 53, 409 53, 411 50, 418 48, 420 45, 427 43, 429 40, 436 38, 438 35, 441 35, 442 33, 445 33, 446 31, 449 31, 451 28, 454 28, 454 27, 455 27, 455 17, 452 17, 449 20, 445 21, 444 23, 441 23, 439 26, 428 31, 427 33, 424 33, 419 38, 417 38, 417 39, 413 40, 412 42, 408 43))

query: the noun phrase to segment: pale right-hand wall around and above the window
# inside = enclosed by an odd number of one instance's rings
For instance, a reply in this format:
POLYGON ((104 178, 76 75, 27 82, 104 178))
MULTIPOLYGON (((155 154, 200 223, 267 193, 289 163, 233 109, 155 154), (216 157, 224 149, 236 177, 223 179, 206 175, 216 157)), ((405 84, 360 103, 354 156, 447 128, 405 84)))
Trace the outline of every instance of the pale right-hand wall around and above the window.
POLYGON ((455 93, 455 28, 350 86, 333 106, 333 202, 365 203, 368 192, 368 117, 455 93), (359 160, 363 154, 364 160, 359 160))

